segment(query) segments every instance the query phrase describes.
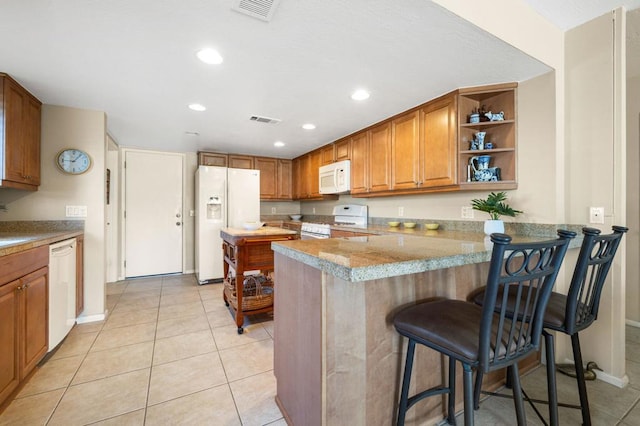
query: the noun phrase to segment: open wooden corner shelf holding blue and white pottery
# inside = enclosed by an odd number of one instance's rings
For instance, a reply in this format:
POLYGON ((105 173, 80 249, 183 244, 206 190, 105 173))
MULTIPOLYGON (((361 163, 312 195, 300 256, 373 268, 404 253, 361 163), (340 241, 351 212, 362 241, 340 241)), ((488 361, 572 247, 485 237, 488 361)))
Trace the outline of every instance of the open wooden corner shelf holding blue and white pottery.
POLYGON ((507 83, 458 90, 461 190, 517 188, 517 87, 507 83))

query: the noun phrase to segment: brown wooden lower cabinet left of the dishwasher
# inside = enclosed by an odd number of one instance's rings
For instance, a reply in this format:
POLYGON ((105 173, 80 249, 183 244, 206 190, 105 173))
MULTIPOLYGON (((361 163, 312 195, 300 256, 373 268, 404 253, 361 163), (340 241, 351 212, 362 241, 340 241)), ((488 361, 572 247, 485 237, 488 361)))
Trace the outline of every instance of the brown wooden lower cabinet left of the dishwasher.
POLYGON ((0 257, 0 404, 48 348, 49 248, 0 257))

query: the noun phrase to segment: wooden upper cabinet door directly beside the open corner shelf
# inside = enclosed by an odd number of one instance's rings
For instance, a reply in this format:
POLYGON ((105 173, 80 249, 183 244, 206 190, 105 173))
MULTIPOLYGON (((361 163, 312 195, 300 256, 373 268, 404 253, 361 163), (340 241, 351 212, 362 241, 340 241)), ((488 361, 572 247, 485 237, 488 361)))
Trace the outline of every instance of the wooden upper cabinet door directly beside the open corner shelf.
POLYGON ((420 187, 457 183, 456 98, 448 96, 425 105, 421 111, 420 187))

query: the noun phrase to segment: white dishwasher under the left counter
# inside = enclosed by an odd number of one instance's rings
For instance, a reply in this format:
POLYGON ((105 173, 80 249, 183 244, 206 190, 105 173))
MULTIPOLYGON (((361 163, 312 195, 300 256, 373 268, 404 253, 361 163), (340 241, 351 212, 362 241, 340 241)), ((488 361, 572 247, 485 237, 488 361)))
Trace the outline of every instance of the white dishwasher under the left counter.
POLYGON ((49 351, 76 322, 76 239, 49 246, 49 351))

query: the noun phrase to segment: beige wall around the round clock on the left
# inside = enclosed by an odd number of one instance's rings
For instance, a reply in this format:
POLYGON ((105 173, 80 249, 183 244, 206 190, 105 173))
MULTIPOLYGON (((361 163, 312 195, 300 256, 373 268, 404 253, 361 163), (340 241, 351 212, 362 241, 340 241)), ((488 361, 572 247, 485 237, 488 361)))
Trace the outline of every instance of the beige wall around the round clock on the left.
POLYGON ((8 208, 0 216, 3 221, 67 220, 65 206, 87 206, 83 317, 99 317, 105 309, 105 135, 103 112, 43 105, 42 184, 36 192, 0 191, 0 204, 8 208), (63 148, 85 150, 91 169, 79 176, 61 173, 54 158, 63 148))

